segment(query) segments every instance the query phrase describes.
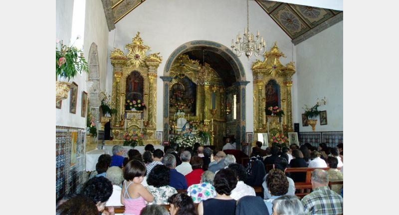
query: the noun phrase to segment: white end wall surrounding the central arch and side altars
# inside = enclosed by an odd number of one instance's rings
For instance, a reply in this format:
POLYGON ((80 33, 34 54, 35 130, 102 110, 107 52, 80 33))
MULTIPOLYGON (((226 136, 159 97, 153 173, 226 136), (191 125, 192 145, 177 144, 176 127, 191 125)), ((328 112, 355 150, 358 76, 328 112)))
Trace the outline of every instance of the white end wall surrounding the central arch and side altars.
MULTIPOLYGON (((255 2, 249 1, 249 28, 266 39, 267 49, 278 42, 279 48, 287 58, 282 58, 285 65, 292 60, 291 39, 255 2)), ((109 50, 123 48, 131 43, 132 38, 140 31, 144 44, 153 52, 161 52, 163 62, 158 68, 157 79, 157 130, 162 131, 163 121, 163 81, 166 62, 172 52, 180 45, 193 40, 209 40, 230 47, 240 31, 246 26, 246 2, 243 0, 148 0, 122 18, 110 32, 109 50)), ((126 50, 125 50, 126 53, 126 50)), ((247 60, 240 57, 245 69, 246 80, 246 131, 253 131, 253 79, 251 65, 256 58, 247 60)), ((259 57, 263 60, 263 57, 259 57)), ((294 83, 295 87, 295 83, 294 83)), ((112 65, 108 61, 107 91, 112 91, 112 65)), ((296 111, 295 111, 296 112, 296 111)))

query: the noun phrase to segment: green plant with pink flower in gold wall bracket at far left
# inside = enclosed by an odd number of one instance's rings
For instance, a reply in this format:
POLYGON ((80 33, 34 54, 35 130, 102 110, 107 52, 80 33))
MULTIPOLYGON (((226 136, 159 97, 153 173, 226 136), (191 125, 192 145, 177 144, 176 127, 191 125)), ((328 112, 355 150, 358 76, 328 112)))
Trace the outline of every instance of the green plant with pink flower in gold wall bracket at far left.
MULTIPOLYGON (((76 38, 79 39, 79 36, 76 38)), ((76 40, 75 40, 76 41, 76 40)), ((74 44, 74 43, 73 43, 74 44)), ((55 74, 56 77, 68 79, 74 78, 77 73, 88 72, 86 59, 83 52, 73 46, 64 45, 63 41, 56 41, 55 47, 55 74)), ((56 81, 56 102, 68 98, 70 84, 56 81)))

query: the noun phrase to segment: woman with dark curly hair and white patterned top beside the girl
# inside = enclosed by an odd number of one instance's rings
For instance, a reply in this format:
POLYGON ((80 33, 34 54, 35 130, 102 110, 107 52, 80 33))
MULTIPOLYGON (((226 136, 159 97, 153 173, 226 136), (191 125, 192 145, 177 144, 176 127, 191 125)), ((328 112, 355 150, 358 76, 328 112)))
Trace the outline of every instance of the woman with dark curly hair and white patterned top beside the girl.
POLYGON ((148 205, 168 205, 168 198, 173 194, 177 194, 175 188, 169 186, 171 173, 165 165, 155 166, 147 178, 146 189, 154 196, 154 202, 148 205))

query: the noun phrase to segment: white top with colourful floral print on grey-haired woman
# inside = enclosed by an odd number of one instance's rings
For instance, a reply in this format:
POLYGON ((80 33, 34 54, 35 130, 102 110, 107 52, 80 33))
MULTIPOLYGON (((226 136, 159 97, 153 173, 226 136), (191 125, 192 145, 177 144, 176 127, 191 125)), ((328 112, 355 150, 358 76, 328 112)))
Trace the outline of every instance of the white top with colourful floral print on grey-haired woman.
POLYGON ((187 195, 193 198, 194 203, 216 197, 215 188, 209 183, 195 184, 187 189, 187 195))

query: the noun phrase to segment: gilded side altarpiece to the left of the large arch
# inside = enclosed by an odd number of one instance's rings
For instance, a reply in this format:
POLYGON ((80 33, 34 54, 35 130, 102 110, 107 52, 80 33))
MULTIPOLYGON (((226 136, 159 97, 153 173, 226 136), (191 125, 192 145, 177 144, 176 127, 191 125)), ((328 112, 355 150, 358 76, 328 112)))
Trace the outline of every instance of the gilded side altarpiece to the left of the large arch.
MULTIPOLYGON (((144 134, 144 144, 159 143, 156 138, 156 104, 157 104, 157 69, 162 62, 160 53, 147 55, 150 47, 143 44, 140 32, 125 46, 129 50, 124 54, 115 48, 111 52, 113 66, 112 102, 117 113, 112 115, 112 141, 106 145, 123 144, 123 133, 137 131, 144 134), (134 86, 137 83, 138 88, 134 86), (128 86, 126 86, 129 84, 128 86), (132 86, 130 86, 132 85, 132 86), (139 89, 139 90, 137 90, 139 89), (133 92, 133 94, 132 94, 133 92), (129 110, 125 105, 127 96, 146 105, 143 110, 129 110)), ((130 99, 132 99, 130 98, 130 99)))

